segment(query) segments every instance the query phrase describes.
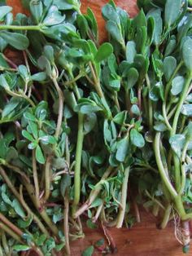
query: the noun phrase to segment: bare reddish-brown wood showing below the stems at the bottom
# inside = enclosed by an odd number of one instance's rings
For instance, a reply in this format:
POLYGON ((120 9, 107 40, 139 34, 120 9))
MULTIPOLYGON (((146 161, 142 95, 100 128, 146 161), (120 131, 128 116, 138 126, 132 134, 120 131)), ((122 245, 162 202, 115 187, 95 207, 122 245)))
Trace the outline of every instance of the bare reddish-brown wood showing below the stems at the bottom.
MULTIPOLYGON (((110 229, 117 246, 114 256, 182 256, 182 247, 174 235, 174 225, 170 223, 164 230, 156 228, 156 220, 151 214, 142 213, 142 223, 131 229, 110 229)), ((72 242, 72 256, 81 256, 81 252, 95 241, 104 238, 102 230, 85 228, 85 239, 72 242)), ((95 250, 94 256, 101 255, 95 250)), ((109 254, 108 254, 109 255, 109 254)), ((192 255, 192 248, 189 256, 192 255)))

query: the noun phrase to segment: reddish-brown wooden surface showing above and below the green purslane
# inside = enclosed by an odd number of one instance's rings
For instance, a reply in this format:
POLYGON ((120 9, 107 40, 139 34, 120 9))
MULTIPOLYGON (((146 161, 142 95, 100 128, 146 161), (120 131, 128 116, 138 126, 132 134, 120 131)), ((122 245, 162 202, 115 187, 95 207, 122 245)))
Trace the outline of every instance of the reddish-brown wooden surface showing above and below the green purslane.
MULTIPOLYGON (((100 41, 107 39, 105 32, 105 24, 101 15, 101 8, 106 4, 107 0, 82 0, 81 10, 86 11, 87 7, 91 7, 94 11, 99 27, 100 41)), ((116 4, 123 7, 133 17, 137 13, 136 0, 117 0, 116 4)), ((23 12, 20 0, 7 0, 7 4, 11 5, 14 13, 23 12)), ((13 53, 11 53, 14 58, 13 53)), ((16 56, 16 55, 15 55, 16 56)), ((136 224, 132 229, 111 229, 111 235, 116 241, 118 252, 116 255, 125 256, 181 256, 181 245, 174 236, 174 225, 171 223, 166 229, 158 230, 155 224, 155 218, 150 214, 142 214, 142 223, 136 224)), ((85 227, 85 239, 72 242, 72 255, 80 256, 81 252, 95 241, 103 238, 101 230, 89 230, 85 227)), ((101 255, 98 252, 94 254, 101 255)), ((192 249, 190 254, 192 255, 192 249)))

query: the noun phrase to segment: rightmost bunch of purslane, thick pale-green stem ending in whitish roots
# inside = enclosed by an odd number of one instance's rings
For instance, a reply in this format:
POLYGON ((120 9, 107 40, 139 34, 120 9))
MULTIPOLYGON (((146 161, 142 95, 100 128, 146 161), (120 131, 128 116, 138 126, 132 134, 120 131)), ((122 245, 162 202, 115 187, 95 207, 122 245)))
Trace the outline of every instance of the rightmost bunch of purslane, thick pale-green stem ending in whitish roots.
POLYGON ((192 217, 191 9, 181 0, 137 6, 141 11, 133 20, 113 2, 103 8, 116 56, 125 57, 119 74, 127 111, 137 111, 145 132, 146 145, 133 154, 131 184, 138 202, 155 216, 163 214, 160 227, 174 218, 186 251, 192 217))

